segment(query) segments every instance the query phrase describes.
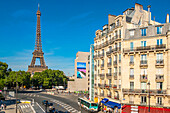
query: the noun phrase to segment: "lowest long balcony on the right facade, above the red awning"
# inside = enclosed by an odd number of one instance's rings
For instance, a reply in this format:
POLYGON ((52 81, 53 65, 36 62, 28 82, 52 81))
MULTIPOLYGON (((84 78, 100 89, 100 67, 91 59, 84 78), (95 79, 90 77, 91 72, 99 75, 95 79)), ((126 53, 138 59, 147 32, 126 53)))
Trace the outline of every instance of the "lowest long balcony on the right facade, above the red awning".
MULTIPOLYGON (((148 89, 122 89, 122 91, 124 94, 143 94, 143 93, 148 94, 149 92, 148 89)), ((151 95, 166 94, 166 90, 150 89, 150 94, 151 95)))

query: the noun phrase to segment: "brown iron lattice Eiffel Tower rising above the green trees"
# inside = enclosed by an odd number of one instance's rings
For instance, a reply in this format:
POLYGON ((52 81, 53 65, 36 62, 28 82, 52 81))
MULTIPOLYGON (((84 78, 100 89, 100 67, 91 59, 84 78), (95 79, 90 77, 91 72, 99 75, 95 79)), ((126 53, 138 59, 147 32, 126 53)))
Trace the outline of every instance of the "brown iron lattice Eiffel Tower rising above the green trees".
POLYGON ((35 41, 35 49, 31 61, 31 65, 28 66, 28 71, 31 74, 34 74, 35 72, 42 72, 43 70, 48 69, 48 66, 45 64, 44 60, 44 53, 42 51, 42 43, 41 43, 41 26, 40 26, 40 16, 41 12, 39 10, 39 4, 38 4, 38 11, 37 11, 37 29, 36 29, 36 41, 35 41), (36 59, 40 60, 40 65, 35 65, 36 59))

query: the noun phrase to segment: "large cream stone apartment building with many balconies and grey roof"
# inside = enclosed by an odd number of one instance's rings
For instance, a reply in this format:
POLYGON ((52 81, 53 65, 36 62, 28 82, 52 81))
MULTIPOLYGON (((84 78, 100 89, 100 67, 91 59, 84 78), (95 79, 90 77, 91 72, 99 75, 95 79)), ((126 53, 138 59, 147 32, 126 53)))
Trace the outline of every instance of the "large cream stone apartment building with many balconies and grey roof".
POLYGON ((108 16, 94 38, 95 97, 170 107, 170 24, 151 20, 140 4, 108 16), (150 83, 150 85, 149 85, 150 83))

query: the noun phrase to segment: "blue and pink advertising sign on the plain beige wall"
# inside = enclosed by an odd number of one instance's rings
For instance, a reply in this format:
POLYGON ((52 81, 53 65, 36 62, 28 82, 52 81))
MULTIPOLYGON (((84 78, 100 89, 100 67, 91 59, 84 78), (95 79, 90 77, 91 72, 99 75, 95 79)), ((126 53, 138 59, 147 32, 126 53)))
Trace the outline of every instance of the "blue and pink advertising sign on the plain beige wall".
POLYGON ((77 78, 86 77, 86 63, 77 62, 77 78))

